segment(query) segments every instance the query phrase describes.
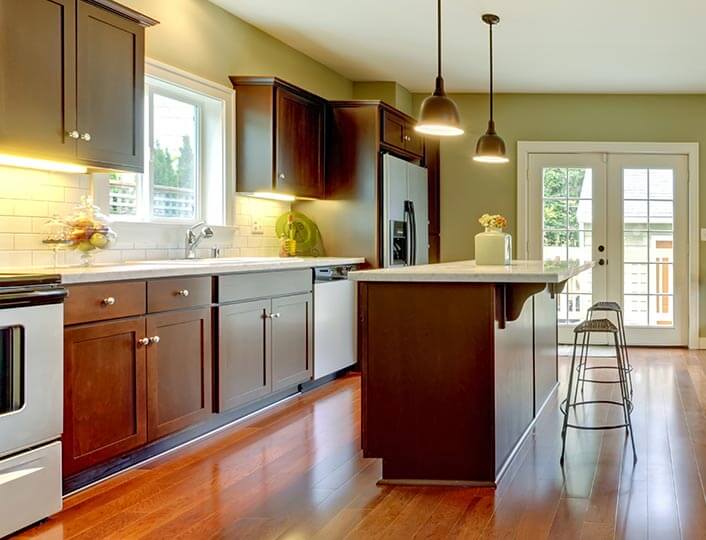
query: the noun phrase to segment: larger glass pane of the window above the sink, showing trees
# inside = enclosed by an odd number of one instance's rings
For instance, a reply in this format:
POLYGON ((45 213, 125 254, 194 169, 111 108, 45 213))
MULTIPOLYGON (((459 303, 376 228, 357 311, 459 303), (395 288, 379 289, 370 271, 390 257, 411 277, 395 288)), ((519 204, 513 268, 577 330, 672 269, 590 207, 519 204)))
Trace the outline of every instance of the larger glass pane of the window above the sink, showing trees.
POLYGON ((196 215, 199 107, 153 94, 152 217, 194 220, 196 215))

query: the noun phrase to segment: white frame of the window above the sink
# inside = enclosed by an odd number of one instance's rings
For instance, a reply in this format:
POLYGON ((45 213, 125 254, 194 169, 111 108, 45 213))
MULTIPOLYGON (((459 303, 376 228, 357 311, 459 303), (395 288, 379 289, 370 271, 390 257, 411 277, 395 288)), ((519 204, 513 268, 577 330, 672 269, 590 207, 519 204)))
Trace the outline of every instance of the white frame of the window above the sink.
MULTIPOLYGON (((164 64, 157 60, 145 59, 145 157, 149 156, 152 146, 152 107, 155 88, 159 94, 173 97, 180 101, 192 103, 199 107, 199 114, 218 114, 223 118, 221 132, 210 132, 208 130, 208 119, 199 122, 197 127, 196 141, 194 141, 194 153, 197 158, 196 174, 196 215, 194 219, 162 218, 152 216, 152 183, 145 181, 150 177, 151 160, 145 162, 145 173, 140 176, 137 189, 138 214, 136 216, 113 215, 115 222, 144 223, 175 225, 183 228, 184 225, 192 225, 199 221, 206 221, 209 225, 234 226, 234 197, 235 197, 235 92, 232 88, 204 79, 192 73, 188 73, 179 68, 164 64), (148 86, 148 81, 152 80, 152 86, 148 86), (164 83, 163 88, 159 88, 160 82, 164 83), (176 88, 170 88, 176 87, 176 88), (181 93, 179 88, 186 92, 181 93), (197 93, 207 98, 213 98, 222 104, 219 110, 215 109, 212 103, 208 110, 204 107, 204 101, 188 96, 187 92, 197 93), (206 126, 206 129, 201 129, 206 126), (221 144, 214 144, 216 138, 220 138, 221 144), (210 139, 210 140, 209 140, 210 139), (213 159, 201 159, 203 152, 220 154, 213 159), (220 193, 216 197, 211 197, 214 193, 214 185, 220 187, 220 193)), ((213 123, 216 124, 216 123, 213 123)), ((95 199, 99 204, 108 206, 110 188, 108 185, 108 175, 94 175, 93 183, 95 199)))

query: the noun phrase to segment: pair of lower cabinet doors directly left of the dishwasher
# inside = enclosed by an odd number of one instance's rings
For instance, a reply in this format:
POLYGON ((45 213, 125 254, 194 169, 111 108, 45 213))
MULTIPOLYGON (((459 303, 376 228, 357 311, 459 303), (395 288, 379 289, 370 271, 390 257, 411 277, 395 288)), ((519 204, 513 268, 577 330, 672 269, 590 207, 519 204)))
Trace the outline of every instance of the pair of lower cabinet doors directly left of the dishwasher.
POLYGON ((226 304, 218 309, 219 411, 311 379, 311 294, 226 304))

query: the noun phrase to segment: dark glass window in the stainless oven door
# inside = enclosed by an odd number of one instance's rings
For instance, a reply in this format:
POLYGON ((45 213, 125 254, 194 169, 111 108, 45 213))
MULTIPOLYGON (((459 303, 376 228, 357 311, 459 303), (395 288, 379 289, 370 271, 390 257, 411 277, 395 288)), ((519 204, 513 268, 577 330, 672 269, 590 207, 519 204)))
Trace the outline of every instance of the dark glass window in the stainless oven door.
POLYGON ((24 364, 24 329, 0 328, 0 415, 24 406, 24 364))

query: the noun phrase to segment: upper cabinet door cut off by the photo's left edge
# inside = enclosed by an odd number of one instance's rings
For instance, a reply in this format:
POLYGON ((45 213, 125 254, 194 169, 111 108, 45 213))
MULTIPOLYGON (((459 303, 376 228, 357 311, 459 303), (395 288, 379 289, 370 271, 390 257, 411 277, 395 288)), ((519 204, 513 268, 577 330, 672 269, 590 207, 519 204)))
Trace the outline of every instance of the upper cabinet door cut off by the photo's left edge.
POLYGON ((0 2, 0 152, 75 159, 76 0, 0 2))

